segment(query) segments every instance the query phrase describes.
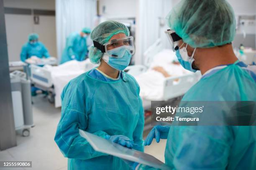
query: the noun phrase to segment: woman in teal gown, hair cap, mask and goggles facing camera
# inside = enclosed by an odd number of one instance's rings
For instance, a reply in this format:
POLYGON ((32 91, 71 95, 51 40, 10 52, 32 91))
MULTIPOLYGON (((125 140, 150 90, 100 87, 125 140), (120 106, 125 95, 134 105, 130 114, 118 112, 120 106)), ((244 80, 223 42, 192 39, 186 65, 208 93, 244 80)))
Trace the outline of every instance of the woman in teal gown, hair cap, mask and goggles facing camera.
POLYGON ((128 148, 143 151, 144 113, 136 80, 123 72, 134 53, 128 28, 116 21, 91 34, 89 58, 96 67, 71 80, 61 95, 61 120, 54 140, 68 159, 69 170, 125 170, 120 158, 95 152, 79 129, 128 148))

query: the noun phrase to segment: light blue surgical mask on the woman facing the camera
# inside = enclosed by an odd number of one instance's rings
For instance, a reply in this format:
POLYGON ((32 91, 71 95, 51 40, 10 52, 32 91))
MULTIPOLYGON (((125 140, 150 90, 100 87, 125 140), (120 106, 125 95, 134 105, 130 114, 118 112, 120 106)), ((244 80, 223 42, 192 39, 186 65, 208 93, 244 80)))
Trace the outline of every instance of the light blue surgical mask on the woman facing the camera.
POLYGON ((102 59, 116 70, 124 70, 131 61, 131 53, 128 46, 122 46, 113 50, 108 50, 108 54, 104 54, 102 59), (111 56, 110 56, 111 55, 111 56), (115 57, 113 57, 115 56, 115 57))

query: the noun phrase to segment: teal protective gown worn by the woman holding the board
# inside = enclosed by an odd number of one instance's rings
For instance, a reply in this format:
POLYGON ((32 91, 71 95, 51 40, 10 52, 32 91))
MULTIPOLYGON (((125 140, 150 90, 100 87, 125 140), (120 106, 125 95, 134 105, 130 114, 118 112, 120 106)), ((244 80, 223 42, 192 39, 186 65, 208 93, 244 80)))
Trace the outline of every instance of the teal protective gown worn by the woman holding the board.
POLYGON ((79 129, 105 138, 125 135, 143 151, 144 112, 136 80, 125 72, 119 80, 93 69, 71 80, 62 95, 61 120, 54 140, 68 159, 69 170, 126 170, 120 158, 95 152, 79 129))

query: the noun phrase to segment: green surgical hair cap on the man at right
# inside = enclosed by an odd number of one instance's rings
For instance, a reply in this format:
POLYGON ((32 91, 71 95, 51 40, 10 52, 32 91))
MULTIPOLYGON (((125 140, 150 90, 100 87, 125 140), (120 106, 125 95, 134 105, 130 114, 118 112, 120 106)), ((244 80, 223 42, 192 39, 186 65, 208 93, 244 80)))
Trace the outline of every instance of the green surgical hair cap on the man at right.
POLYGON ((215 47, 234 40, 236 19, 226 0, 182 0, 166 16, 167 25, 192 47, 215 47))

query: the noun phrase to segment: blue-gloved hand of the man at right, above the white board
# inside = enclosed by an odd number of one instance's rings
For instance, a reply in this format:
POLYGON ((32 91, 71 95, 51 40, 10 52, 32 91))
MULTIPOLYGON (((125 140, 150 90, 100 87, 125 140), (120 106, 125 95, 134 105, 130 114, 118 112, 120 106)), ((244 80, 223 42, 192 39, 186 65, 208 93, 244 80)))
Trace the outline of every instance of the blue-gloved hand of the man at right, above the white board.
POLYGON ((170 126, 155 126, 150 133, 148 134, 144 145, 150 145, 152 140, 156 138, 156 142, 159 143, 160 139, 167 139, 168 133, 170 130, 170 126))

